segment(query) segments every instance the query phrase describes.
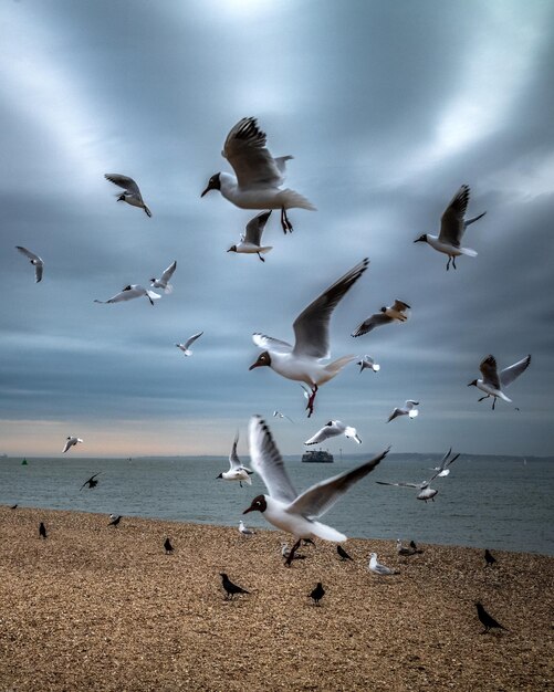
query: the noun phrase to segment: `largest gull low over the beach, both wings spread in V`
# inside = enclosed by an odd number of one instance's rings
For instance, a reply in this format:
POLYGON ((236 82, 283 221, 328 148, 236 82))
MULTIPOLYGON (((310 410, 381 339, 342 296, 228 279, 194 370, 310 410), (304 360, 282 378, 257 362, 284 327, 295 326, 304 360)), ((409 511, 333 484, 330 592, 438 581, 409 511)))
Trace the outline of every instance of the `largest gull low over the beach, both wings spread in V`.
MULTIPOLYGON (((370 473, 385 459, 388 449, 356 469, 316 483, 299 495, 286 474, 283 459, 271 432, 260 416, 250 419, 248 433, 252 468, 260 474, 268 494, 254 497, 243 514, 261 512, 270 524, 291 533, 296 538, 291 548, 292 556, 302 538, 317 536, 334 543, 346 541, 344 534, 317 522, 316 518, 325 514, 354 483, 370 473)), ((292 559, 290 556, 289 565, 292 559)))

